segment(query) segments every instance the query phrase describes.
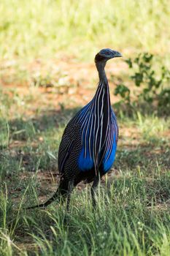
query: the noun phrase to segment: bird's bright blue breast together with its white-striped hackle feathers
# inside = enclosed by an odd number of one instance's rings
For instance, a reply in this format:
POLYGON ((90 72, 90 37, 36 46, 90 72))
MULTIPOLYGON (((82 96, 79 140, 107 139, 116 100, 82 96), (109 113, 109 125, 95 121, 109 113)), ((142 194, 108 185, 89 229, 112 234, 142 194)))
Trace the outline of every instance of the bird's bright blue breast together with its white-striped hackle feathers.
POLYGON ((82 151, 77 159, 80 171, 102 165, 107 172, 115 160, 117 146, 117 122, 108 86, 98 86, 95 97, 77 113, 74 121, 80 124, 82 135, 82 151))

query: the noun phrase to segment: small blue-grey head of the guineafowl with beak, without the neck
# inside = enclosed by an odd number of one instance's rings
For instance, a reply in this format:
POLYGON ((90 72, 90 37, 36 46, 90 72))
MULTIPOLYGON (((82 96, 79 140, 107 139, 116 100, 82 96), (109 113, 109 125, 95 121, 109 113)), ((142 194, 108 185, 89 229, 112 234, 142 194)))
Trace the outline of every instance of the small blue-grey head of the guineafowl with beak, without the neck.
POLYGON ((117 50, 111 50, 109 48, 102 49, 99 51, 99 53, 95 56, 95 62, 103 62, 106 64, 106 62, 109 59, 116 58, 116 57, 122 57, 122 55, 117 50))

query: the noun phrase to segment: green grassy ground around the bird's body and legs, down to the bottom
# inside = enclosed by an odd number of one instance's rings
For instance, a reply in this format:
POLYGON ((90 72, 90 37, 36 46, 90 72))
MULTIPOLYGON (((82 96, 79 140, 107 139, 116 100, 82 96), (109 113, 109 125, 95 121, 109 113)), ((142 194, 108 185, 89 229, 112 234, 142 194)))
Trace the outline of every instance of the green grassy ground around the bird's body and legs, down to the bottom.
MULTIPOLYGON (((5 94, 2 98, 5 110, 25 100, 19 94, 17 102, 5 94)), ((3 112, 0 255, 169 255, 169 118, 139 113, 120 118, 117 113, 117 171, 101 182, 96 211, 90 187, 75 189, 69 213, 60 203, 45 211, 23 209, 55 191, 55 157, 65 124, 76 111, 39 110, 32 118, 18 112, 12 119, 3 112), (39 179, 45 175, 50 181, 39 179)))

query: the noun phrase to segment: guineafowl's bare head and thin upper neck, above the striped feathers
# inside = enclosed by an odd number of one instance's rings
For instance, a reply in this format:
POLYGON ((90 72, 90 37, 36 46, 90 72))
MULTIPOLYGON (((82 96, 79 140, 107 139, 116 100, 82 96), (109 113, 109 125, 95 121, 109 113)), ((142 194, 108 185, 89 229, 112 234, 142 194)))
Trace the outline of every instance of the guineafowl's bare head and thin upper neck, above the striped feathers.
POLYGON ((104 67, 109 59, 117 57, 122 57, 121 53, 119 53, 117 50, 112 50, 109 48, 102 49, 99 51, 99 53, 96 54, 95 63, 96 68, 98 69, 98 76, 100 80, 104 80, 104 82, 107 82, 107 76, 104 71, 104 67))

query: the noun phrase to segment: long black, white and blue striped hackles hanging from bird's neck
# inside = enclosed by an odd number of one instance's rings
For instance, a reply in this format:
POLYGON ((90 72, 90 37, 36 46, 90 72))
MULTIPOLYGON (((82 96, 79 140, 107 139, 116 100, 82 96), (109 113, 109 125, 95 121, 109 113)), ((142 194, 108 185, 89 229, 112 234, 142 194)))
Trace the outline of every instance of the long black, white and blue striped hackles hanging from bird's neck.
POLYGON ((73 121, 81 127, 84 158, 93 159, 95 168, 102 162, 113 136, 112 109, 109 98, 108 83, 100 80, 93 99, 86 105, 73 121))

